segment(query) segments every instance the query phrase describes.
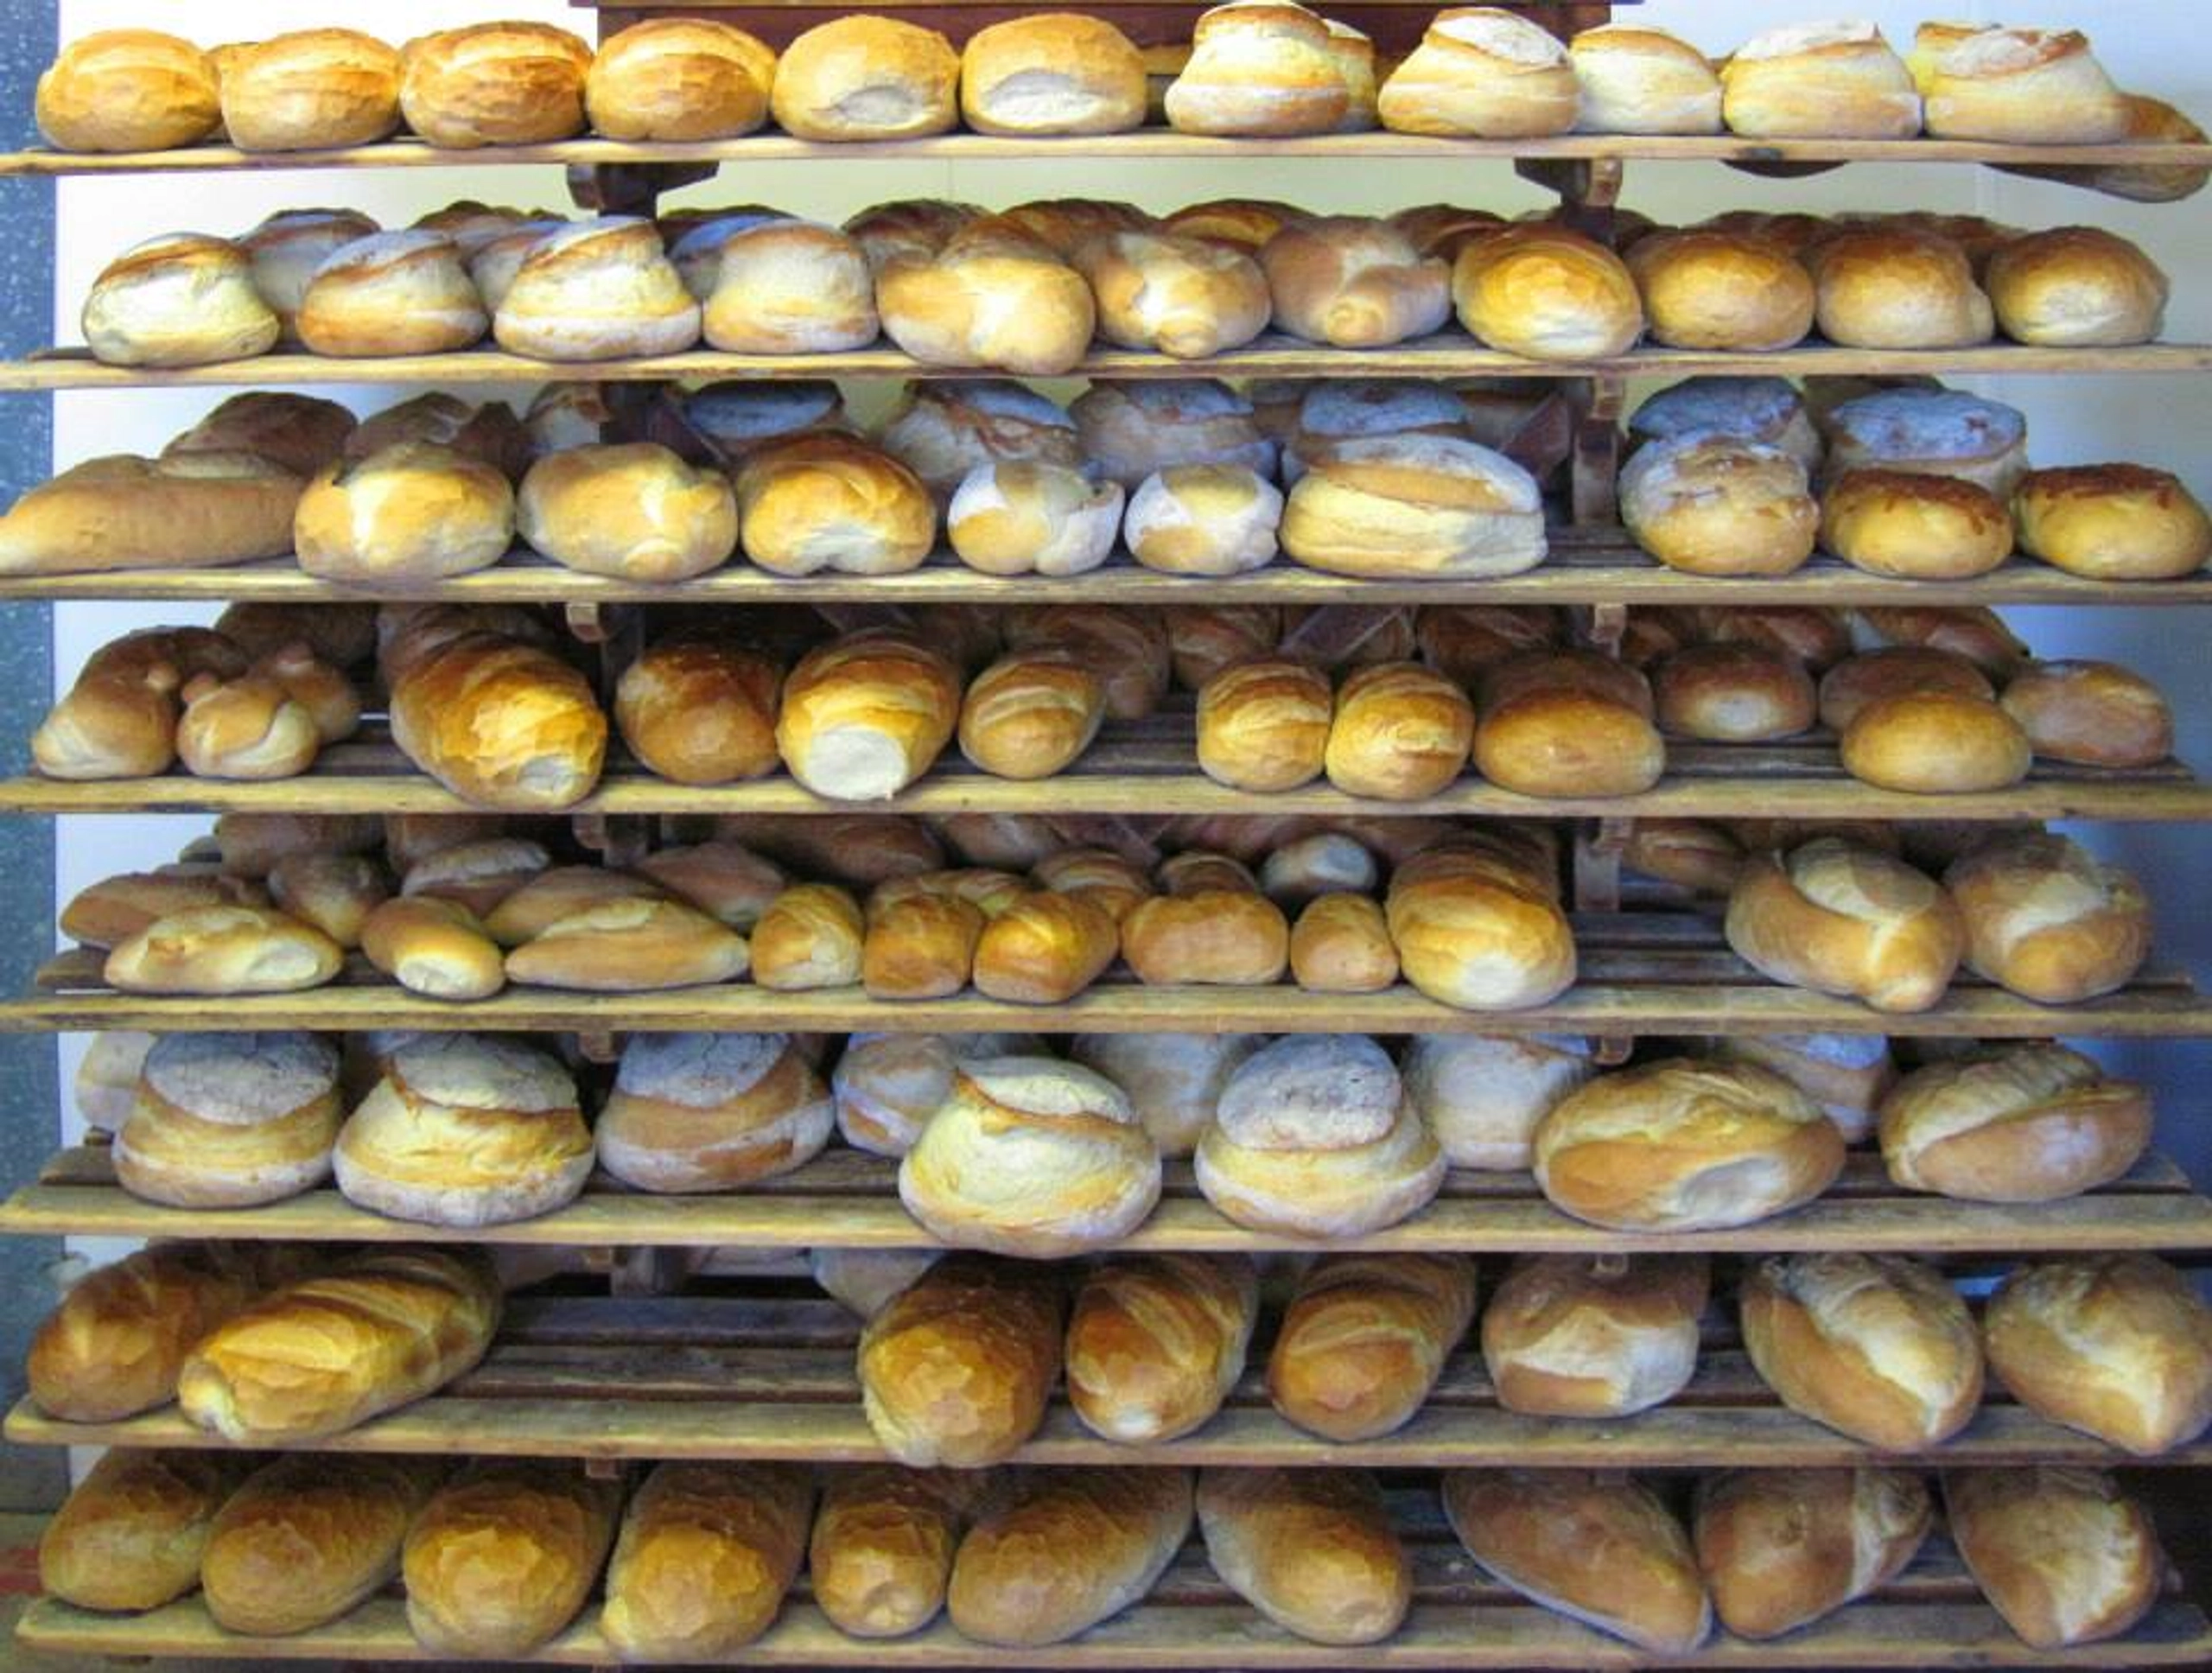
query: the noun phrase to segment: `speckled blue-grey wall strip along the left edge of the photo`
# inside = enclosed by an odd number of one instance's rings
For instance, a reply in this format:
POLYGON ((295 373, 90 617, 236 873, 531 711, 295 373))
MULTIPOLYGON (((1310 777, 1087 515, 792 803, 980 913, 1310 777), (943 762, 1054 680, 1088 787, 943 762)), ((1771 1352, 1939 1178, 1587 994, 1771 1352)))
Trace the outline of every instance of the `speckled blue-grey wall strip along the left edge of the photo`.
MULTIPOLYGON (((13 0, 0 7, 0 133, 13 148, 31 139, 31 84, 53 58, 53 7, 13 0)), ((44 343, 53 319, 53 186, 0 181, 0 345, 9 358, 44 343)), ((51 396, 0 396, 0 502, 53 465, 51 396)), ((46 708, 53 684, 53 631, 44 604, 0 606, 0 750, 4 768, 22 770, 22 741, 46 708)), ((53 825, 44 819, 0 823, 0 989, 22 991, 53 945, 53 825)), ((27 1182, 53 1149, 53 1040, 0 1036, 0 1188, 27 1182)), ((46 1279, 60 1244, 9 1241, 0 1248, 0 1396, 22 1392, 31 1330, 53 1297, 46 1279)), ((62 1454, 0 1449, 0 1507, 31 1509, 60 1500, 62 1454)))

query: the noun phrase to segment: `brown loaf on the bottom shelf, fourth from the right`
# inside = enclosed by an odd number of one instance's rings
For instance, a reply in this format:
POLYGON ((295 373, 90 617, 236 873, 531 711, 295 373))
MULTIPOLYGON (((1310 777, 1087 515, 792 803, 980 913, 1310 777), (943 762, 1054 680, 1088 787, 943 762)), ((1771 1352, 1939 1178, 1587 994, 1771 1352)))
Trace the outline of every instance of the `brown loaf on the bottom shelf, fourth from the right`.
POLYGON ((1405 1622, 1413 1565, 1365 1469, 1206 1469, 1206 1560, 1267 1620, 1314 1644, 1376 1644, 1405 1622))

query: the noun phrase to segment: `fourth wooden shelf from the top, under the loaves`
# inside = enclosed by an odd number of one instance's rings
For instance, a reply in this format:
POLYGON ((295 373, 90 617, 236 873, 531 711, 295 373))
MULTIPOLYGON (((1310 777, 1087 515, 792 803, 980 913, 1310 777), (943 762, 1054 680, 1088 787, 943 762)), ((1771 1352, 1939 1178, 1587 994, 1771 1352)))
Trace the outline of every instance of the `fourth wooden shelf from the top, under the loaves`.
MULTIPOLYGON (((1843 770, 1834 741, 1668 744, 1668 775, 1632 797, 1524 797, 1462 777, 1422 801, 1352 797, 1316 779, 1256 797, 1214 783, 1197 766, 1192 710, 1177 706, 1144 721, 1108 726, 1071 770, 1051 779, 995 779, 947 750, 931 772, 883 803, 827 801, 779 772, 723 786, 686 786, 608 763, 577 814, 818 814, 852 808, 951 814, 1360 814, 1369 819, 1455 814, 1475 819, 2106 819, 2205 821, 2212 786, 2179 761, 2119 772, 2048 763, 2008 790, 1911 794, 1878 790, 1843 770)), ((383 726, 325 748, 296 779, 0 779, 0 814, 133 812, 471 812, 409 761, 383 726)))

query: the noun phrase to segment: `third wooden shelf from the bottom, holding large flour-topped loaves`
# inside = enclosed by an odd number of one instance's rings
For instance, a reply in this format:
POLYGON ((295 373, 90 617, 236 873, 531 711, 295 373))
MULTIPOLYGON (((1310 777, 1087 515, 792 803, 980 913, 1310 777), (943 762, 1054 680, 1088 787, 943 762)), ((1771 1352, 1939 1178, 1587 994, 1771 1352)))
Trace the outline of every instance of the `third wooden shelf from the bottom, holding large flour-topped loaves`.
MULTIPOLYGON (((35 1184, 0 1204, 0 1235, 24 1237, 232 1237, 281 1241, 451 1241, 449 1226, 418 1226, 356 1208, 334 1188, 263 1208, 164 1208, 115 1184, 106 1151, 62 1151, 35 1184)), ((657 1197, 595 1177, 566 1208, 538 1219, 484 1226, 480 1244, 518 1248, 931 1248, 898 1202, 896 1164, 832 1149, 781 1180, 730 1195, 657 1197)), ((1245 1230, 1223 1219, 1190 1177, 1168 1164, 1152 1217, 1119 1244, 1126 1250, 1263 1253, 1314 1250, 1316 1239, 1245 1230)), ((1416 1217, 1327 1248, 1526 1253, 1717 1253, 1778 1255, 1860 1248, 1951 1255, 2143 1248, 2212 1250, 2212 1202, 2163 1157, 2126 1180, 2068 1202, 1975 1204, 1900 1191, 1874 1155, 1854 1155, 1820 1202, 1754 1226, 1710 1233, 1610 1233, 1553 1208, 1526 1173, 1453 1171, 1416 1217)))

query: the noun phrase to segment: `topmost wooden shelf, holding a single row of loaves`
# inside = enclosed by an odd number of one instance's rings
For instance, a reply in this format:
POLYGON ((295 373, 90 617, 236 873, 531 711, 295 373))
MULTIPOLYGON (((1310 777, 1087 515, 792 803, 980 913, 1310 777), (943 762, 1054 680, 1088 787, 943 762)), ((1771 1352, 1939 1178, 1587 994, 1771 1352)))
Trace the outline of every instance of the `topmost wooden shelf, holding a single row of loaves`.
MULTIPOLYGON (((695 0, 697 2, 697 0, 695 0)), ((933 0, 942 2, 942 0, 933 0)), ((1358 2, 1358 0, 1354 0, 1358 2)), ((0 177, 7 175, 146 175, 146 173, 223 173, 223 170, 299 170, 299 168, 491 168, 542 164, 613 166, 613 164, 763 164, 763 162, 1489 162, 1513 164, 1535 159, 1632 159, 1632 162, 1880 162, 1880 164, 2011 164, 2011 166, 2117 166, 2152 164, 2163 168, 2212 166, 2212 146, 2201 144, 2104 144, 2104 146, 2004 146, 1980 139, 1741 139, 1736 135, 1557 135, 1551 139, 1436 139, 1407 133, 1329 133, 1294 139, 1210 139, 1144 128, 1082 139, 1020 139, 984 133, 947 133, 929 139, 887 139, 872 144, 818 144, 783 133, 754 133, 739 139, 699 142, 624 142, 624 139, 557 139, 540 146, 487 146, 482 150, 438 150, 420 139, 385 139, 374 146, 336 150, 250 153, 232 146, 190 146, 186 150, 139 150, 115 155, 66 150, 0 153, 0 177)))

